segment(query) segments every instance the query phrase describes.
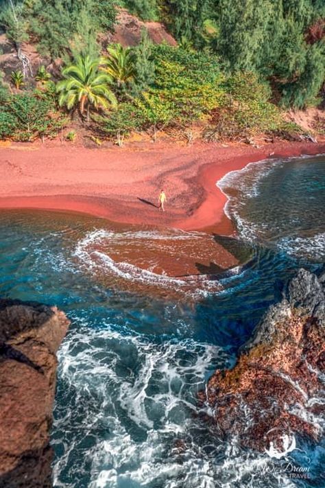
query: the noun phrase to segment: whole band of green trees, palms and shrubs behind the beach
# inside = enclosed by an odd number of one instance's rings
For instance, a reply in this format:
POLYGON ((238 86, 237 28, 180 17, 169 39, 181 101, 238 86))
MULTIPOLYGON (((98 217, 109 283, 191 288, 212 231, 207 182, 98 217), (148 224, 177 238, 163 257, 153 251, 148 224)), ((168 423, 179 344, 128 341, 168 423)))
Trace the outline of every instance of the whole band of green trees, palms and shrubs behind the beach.
POLYGON ((197 128, 208 141, 292 137, 282 111, 324 103, 323 0, 2 0, 0 25, 21 60, 0 78, 1 138, 55 137, 69 117, 97 143, 161 130, 191 142, 197 128), (104 47, 121 8, 164 23, 178 47, 145 30, 136 47, 104 47), (33 80, 27 42, 43 59, 33 80))

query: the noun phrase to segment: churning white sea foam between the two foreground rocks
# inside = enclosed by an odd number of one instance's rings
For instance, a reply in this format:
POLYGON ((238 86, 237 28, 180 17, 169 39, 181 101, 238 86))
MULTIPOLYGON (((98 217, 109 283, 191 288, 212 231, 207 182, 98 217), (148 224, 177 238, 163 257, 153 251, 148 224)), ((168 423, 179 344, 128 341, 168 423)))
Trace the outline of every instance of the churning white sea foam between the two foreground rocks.
POLYGON ((206 375, 230 360, 222 349, 80 326, 59 360, 55 487, 265 488, 265 476, 293 487, 265 454, 221 441, 197 417, 206 375))

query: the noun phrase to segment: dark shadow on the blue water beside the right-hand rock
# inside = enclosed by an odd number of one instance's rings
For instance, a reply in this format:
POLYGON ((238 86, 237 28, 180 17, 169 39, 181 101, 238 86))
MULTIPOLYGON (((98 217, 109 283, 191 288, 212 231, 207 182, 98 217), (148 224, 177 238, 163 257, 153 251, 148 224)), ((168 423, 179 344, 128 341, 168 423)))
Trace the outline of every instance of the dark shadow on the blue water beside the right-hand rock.
MULTIPOLYGON (((233 255, 247 259, 247 244, 240 240, 215 236, 217 242, 229 242, 233 255), (241 249, 241 246, 243 249, 241 249)), ((226 247, 226 246, 225 246, 226 247)), ((250 259, 240 267, 217 275, 224 288, 196 304, 197 338, 237 354, 250 339, 268 307, 282 299, 285 284, 301 267, 317 272, 322 266, 294 259, 283 251, 255 244, 250 259)), ((197 264, 197 269, 213 271, 215 265, 197 264)))

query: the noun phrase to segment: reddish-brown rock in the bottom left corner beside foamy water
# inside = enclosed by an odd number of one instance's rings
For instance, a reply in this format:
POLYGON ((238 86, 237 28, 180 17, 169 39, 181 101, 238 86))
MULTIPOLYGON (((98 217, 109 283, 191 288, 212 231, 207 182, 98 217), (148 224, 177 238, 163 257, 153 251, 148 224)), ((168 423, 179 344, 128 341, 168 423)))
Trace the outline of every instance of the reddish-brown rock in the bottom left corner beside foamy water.
POLYGON ((56 307, 0 299, 0 487, 51 487, 56 351, 69 321, 56 307))

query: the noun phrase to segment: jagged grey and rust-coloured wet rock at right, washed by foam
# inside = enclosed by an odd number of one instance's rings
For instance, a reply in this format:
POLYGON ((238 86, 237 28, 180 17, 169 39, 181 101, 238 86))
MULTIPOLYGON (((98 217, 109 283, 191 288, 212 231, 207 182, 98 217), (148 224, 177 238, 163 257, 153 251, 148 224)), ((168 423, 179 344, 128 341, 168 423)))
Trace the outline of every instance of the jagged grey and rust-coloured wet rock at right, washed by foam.
POLYGON ((299 270, 231 370, 215 371, 200 401, 221 434, 264 451, 285 434, 320 437, 325 404, 325 273, 299 270))

